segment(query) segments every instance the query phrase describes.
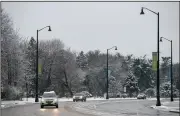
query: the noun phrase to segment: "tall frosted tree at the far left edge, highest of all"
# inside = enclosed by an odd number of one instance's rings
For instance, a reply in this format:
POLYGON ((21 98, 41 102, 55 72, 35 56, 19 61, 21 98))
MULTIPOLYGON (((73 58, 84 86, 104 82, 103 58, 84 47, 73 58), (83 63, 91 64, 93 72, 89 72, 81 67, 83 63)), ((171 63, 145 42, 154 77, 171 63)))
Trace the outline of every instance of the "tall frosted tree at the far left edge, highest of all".
POLYGON ((3 90, 4 95, 8 95, 13 86, 21 89, 23 75, 20 40, 18 32, 13 29, 11 17, 1 9, 1 83, 6 88, 3 90))

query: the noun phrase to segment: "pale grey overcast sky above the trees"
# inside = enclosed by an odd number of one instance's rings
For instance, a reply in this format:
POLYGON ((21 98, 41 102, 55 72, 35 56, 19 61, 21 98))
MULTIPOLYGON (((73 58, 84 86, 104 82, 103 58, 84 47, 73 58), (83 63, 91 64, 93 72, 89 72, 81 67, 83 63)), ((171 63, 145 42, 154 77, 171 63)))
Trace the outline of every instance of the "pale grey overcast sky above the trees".
MULTIPOLYGON (((76 51, 118 47, 123 55, 152 57, 157 51, 157 15, 160 13, 160 36, 173 40, 173 60, 179 62, 178 2, 3 2, 2 7, 14 21, 14 28, 24 37, 35 37, 36 30, 51 25, 39 33, 39 40, 58 38, 76 51)), ((116 51, 111 50, 111 53, 116 51)), ((160 43, 162 56, 170 56, 170 42, 160 43)))

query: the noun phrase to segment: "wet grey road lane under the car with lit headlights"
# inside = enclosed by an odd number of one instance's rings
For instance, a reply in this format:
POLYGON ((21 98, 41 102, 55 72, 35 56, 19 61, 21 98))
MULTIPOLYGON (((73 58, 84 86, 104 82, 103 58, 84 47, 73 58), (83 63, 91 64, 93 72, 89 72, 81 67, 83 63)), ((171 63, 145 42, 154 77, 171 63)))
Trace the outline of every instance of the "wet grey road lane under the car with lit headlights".
MULTIPOLYGON (((59 102, 59 108, 40 108, 40 104, 30 104, 2 109, 1 116, 86 116, 74 111, 67 110, 67 102, 59 102)), ((68 103, 71 104, 71 103, 68 103)), ((72 102, 73 104, 73 102, 72 102)))

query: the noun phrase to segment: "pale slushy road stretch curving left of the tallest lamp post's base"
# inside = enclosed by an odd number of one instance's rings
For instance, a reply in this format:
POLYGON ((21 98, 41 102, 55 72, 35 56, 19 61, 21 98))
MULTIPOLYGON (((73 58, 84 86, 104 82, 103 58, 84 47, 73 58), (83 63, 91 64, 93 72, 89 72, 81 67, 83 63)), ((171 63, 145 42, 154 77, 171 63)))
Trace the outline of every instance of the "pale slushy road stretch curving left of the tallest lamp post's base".
POLYGON ((150 106, 155 104, 155 100, 109 101, 108 103, 104 102, 102 104, 96 105, 96 110, 119 116, 179 116, 178 113, 171 113, 168 111, 161 111, 150 108, 150 106))

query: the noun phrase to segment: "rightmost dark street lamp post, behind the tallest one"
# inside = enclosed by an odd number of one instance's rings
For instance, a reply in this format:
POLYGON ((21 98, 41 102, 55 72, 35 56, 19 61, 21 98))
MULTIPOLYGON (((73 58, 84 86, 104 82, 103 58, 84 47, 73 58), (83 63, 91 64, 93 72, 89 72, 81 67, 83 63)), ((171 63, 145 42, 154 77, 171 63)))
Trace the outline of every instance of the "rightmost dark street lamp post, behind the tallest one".
POLYGON ((162 42, 162 39, 165 39, 165 40, 167 40, 167 41, 169 41, 169 42, 171 42, 171 101, 174 101, 173 100, 173 71, 172 71, 172 40, 169 40, 169 39, 166 39, 166 38, 164 38, 164 37, 161 37, 160 38, 160 42, 162 42))

